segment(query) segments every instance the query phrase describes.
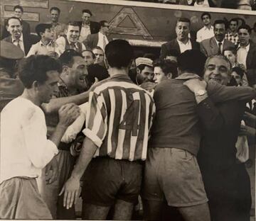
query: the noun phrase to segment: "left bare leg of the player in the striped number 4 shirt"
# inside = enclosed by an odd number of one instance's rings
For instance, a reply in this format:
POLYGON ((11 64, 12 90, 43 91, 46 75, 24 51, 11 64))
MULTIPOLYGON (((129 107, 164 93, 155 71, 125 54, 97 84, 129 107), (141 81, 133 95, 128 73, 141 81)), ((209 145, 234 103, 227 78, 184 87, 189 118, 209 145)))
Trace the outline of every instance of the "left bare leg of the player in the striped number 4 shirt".
POLYGON ((106 220, 110 206, 100 206, 83 203, 82 220, 106 220))

